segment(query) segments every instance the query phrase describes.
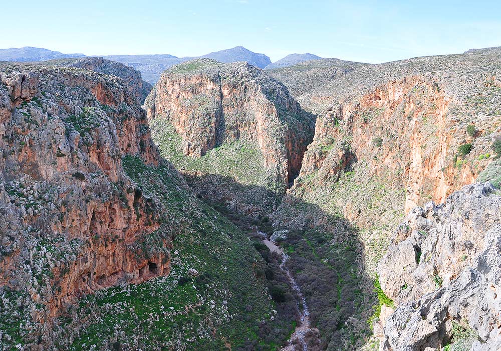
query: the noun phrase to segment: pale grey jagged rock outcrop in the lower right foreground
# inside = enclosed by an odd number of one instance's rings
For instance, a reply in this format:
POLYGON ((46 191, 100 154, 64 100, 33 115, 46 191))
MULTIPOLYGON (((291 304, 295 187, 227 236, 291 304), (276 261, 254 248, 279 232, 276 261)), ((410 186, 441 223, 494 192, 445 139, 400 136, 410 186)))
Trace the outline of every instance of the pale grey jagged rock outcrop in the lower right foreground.
POLYGON ((465 186, 442 205, 409 213, 378 265, 381 287, 397 306, 382 319, 383 350, 454 345, 460 340, 452 326, 459 321, 478 335, 473 350, 497 349, 500 213, 490 183, 465 186))

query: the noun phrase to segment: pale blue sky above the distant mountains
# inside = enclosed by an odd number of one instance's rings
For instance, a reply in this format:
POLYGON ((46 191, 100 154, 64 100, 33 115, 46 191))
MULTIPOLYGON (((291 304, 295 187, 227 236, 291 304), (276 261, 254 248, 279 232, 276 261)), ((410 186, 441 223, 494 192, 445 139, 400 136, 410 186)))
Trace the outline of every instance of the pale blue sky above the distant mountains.
POLYGON ((378 63, 501 46, 497 1, 24 0, 2 13, 0 48, 86 55, 197 56, 242 45, 272 61, 310 52, 378 63))

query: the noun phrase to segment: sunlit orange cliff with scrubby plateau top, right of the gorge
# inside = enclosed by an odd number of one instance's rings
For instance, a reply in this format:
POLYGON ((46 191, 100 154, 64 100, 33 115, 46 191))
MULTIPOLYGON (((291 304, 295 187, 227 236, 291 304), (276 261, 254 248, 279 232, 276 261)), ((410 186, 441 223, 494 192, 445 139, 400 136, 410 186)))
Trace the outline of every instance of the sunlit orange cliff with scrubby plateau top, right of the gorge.
MULTIPOLYGON (((496 154, 492 142, 501 137, 497 63, 496 55, 478 54, 366 65, 323 85, 322 94, 309 92, 311 98, 328 96, 331 104, 318 115, 290 195, 313 197, 327 188, 341 192, 339 177, 354 172, 361 190, 370 192, 371 184, 381 183, 393 193, 387 200, 400 213, 429 200, 444 201, 472 183, 496 154), (365 184, 367 179, 371 182, 365 184), (402 191, 404 201, 396 204, 402 191)), ((336 202, 337 212, 371 227, 364 214, 379 206, 366 209, 364 202, 358 195, 336 202)), ((385 211, 379 209, 379 215, 385 211)))

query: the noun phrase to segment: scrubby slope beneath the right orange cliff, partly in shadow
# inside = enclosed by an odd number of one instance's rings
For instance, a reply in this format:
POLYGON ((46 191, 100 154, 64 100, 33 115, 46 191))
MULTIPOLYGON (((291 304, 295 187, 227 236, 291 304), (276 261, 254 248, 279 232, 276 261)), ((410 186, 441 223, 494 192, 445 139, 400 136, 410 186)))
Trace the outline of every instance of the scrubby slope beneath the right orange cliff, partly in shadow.
POLYGON ((403 215, 401 189, 367 171, 359 162, 327 186, 317 173, 298 179, 302 186, 273 215, 290 230, 281 246, 328 350, 357 349, 371 336, 375 266, 389 243, 389 224, 403 215), (348 221, 345 207, 351 205, 352 214, 360 213, 348 221))

